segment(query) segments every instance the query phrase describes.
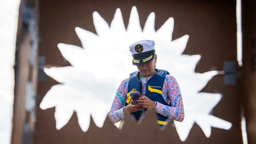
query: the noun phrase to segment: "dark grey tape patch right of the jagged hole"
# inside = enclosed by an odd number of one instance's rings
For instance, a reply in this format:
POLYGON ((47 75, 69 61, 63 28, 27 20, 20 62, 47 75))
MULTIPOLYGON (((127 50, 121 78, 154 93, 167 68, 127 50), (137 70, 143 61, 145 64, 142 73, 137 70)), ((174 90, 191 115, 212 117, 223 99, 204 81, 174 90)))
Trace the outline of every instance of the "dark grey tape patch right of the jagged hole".
POLYGON ((224 85, 236 85, 237 84, 237 61, 224 61, 223 63, 223 71, 224 85))

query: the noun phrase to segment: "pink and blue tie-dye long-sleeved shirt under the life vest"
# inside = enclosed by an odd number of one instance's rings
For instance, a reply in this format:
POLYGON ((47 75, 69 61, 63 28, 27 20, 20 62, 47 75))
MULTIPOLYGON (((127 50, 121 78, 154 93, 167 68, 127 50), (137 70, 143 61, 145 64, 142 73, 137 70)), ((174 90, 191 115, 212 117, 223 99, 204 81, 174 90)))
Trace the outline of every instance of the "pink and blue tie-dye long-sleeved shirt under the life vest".
MULTIPOLYGON (((145 96, 146 94, 146 83, 151 77, 140 77, 142 83, 142 96, 145 96)), ((127 99, 128 83, 129 78, 124 79, 116 91, 112 107, 108 114, 114 123, 121 121, 124 116, 123 108, 127 99)), ((182 122, 184 119, 183 100, 179 85, 172 75, 166 75, 162 88, 162 95, 168 104, 170 102, 170 106, 157 102, 155 111, 169 119, 182 122)))

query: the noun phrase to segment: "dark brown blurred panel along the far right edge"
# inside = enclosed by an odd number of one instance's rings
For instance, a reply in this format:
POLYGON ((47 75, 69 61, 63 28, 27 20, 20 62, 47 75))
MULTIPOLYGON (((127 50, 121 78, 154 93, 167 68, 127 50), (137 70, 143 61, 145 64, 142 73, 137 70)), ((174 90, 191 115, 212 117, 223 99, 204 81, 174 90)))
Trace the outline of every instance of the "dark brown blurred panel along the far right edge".
POLYGON ((242 99, 248 144, 256 143, 256 1, 242 1, 242 99), (254 55, 254 56, 253 56, 254 55), (253 58, 253 59, 252 59, 253 58))

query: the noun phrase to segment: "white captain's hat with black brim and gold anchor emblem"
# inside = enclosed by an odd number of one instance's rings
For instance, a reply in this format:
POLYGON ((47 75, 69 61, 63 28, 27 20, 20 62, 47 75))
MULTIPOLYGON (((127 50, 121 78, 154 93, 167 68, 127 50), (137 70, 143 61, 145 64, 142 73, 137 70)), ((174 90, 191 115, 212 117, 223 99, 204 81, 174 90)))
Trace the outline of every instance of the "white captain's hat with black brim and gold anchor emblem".
POLYGON ((155 42, 153 40, 140 40, 132 44, 130 52, 132 53, 133 65, 144 65, 150 63, 155 58, 155 42))

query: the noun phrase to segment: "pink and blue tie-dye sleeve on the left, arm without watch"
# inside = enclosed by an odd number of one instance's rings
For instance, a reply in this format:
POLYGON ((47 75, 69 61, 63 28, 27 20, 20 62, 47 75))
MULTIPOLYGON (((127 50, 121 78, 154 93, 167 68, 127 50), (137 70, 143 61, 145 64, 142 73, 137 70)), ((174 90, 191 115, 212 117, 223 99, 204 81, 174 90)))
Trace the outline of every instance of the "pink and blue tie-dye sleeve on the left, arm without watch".
POLYGON ((116 91, 115 98, 113 100, 110 112, 108 114, 109 118, 117 123, 123 118, 123 107, 127 99, 127 86, 129 83, 129 78, 124 79, 116 91))

